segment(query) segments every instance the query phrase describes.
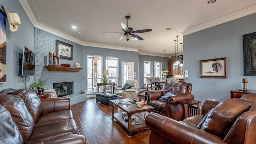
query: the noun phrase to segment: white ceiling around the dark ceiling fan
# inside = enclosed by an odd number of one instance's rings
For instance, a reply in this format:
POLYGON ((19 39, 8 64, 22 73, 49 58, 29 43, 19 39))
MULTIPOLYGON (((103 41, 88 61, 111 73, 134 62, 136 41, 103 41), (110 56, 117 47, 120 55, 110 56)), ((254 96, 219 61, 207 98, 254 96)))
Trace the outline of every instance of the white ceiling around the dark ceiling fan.
MULTIPOLYGON (((127 50, 118 42, 131 16, 129 27, 152 29, 136 34, 144 40, 129 40, 128 50, 140 54, 174 55, 174 40, 256 12, 256 0, 20 0, 33 25, 84 46, 127 50), (72 29, 77 26, 77 29, 72 29), (172 28, 166 30, 166 28, 172 28), (78 34, 80 31, 82 34, 78 34)), ((22 19, 21 19, 22 21, 22 19)), ((186 44, 184 44, 186 46, 186 44)), ((180 44, 178 44, 180 53, 180 44)))

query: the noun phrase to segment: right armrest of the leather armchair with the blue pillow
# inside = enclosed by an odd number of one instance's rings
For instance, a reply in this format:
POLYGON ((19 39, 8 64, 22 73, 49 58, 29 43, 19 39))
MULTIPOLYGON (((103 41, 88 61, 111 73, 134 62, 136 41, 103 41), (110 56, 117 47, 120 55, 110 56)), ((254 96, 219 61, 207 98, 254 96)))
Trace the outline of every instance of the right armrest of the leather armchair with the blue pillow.
POLYGON ((194 100, 194 95, 190 93, 182 93, 173 96, 168 96, 166 98, 166 102, 168 102, 168 104, 177 103, 179 100, 194 100))

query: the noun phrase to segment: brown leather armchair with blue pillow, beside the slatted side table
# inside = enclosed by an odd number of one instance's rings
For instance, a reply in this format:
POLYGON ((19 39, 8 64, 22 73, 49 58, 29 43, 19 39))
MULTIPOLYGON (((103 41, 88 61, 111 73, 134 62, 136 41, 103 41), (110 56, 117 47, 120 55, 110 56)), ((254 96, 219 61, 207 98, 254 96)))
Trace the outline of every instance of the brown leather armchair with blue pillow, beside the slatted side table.
POLYGON ((153 112, 162 114, 174 120, 182 120, 188 117, 187 106, 178 102, 179 100, 194 99, 191 94, 192 84, 182 81, 173 81, 165 83, 162 90, 149 90, 145 93, 148 98, 148 104, 154 107, 153 112), (161 100, 167 92, 174 94, 168 96, 166 101, 161 100))

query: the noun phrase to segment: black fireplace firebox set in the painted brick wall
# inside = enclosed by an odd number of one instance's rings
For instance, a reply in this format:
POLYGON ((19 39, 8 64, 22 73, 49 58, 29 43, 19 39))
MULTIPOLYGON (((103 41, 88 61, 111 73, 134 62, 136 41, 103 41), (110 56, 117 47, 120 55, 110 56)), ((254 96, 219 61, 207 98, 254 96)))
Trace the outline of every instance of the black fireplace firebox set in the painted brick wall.
POLYGON ((54 83, 53 88, 56 90, 58 97, 73 94, 73 82, 54 83))

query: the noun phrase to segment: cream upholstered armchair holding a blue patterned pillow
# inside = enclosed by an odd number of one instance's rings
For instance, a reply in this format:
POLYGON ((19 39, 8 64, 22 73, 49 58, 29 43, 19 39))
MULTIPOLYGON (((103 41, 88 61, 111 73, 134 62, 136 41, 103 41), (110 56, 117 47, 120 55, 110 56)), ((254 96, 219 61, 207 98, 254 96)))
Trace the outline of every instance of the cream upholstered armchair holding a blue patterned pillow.
POLYGON ((114 94, 117 95, 118 99, 123 99, 123 98, 135 99, 137 96, 137 90, 138 90, 137 80, 126 80, 124 83, 124 86, 122 86, 122 88, 116 88, 116 90, 114 91, 114 94), (130 86, 130 88, 124 89, 126 85, 130 86))

